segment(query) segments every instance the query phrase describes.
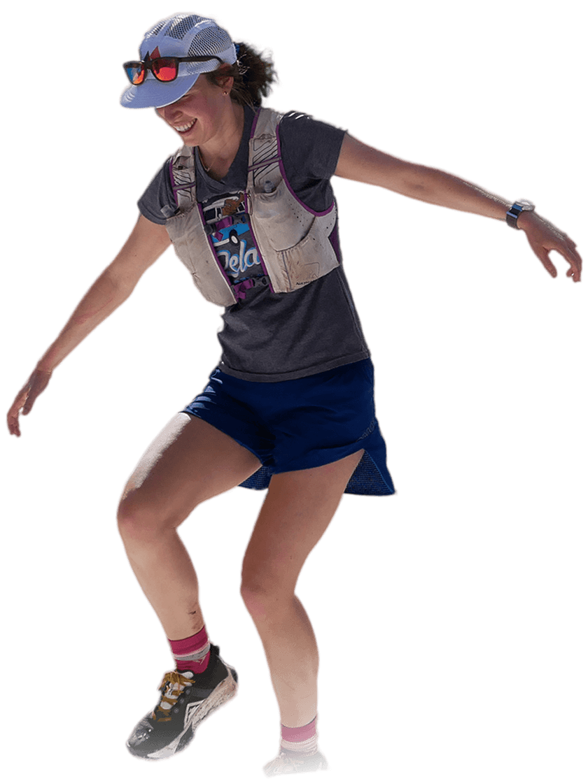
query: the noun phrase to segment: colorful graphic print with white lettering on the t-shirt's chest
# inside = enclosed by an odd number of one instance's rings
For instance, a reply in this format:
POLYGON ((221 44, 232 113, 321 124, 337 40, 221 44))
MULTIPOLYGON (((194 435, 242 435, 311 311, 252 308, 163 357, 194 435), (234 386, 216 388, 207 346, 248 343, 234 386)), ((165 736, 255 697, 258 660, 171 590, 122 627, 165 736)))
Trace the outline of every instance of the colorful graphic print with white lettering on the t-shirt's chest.
POLYGON ((230 193, 203 203, 207 233, 232 284, 264 276, 249 227, 245 194, 230 193))

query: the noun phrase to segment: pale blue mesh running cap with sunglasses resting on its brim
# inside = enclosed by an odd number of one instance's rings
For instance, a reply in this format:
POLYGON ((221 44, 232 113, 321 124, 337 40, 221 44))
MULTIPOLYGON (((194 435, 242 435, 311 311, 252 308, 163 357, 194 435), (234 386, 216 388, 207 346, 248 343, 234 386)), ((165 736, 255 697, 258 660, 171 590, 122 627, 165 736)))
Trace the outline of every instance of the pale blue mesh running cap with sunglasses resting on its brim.
MULTIPOLYGON (((138 46, 139 59, 156 57, 206 57, 214 55, 232 65, 237 61, 235 45, 217 20, 199 13, 173 13, 145 30, 138 46)), ((158 81, 150 70, 142 84, 127 84, 118 100, 123 109, 160 109, 185 95, 200 73, 217 70, 210 62, 180 62, 174 81, 158 81)))

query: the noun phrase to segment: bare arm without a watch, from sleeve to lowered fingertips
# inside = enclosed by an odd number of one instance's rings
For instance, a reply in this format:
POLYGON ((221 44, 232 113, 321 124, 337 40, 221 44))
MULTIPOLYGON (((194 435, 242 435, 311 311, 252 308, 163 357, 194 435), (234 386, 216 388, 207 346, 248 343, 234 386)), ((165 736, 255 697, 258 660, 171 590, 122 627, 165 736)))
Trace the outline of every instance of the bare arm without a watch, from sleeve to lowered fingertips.
POLYGON ((163 225, 139 215, 133 230, 77 302, 55 339, 38 358, 6 413, 6 429, 20 439, 20 418, 30 415, 35 402, 47 389, 58 366, 131 298, 142 276, 160 259, 171 241, 163 225))

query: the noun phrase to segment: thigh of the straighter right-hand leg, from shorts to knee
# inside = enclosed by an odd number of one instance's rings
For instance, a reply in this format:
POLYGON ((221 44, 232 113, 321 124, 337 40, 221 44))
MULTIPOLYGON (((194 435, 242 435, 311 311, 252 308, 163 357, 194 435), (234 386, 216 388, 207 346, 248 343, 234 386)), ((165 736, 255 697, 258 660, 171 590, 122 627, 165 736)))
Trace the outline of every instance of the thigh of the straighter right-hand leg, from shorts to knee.
POLYGON ((242 588, 296 590, 362 455, 360 450, 331 464, 272 476, 243 554, 242 588))

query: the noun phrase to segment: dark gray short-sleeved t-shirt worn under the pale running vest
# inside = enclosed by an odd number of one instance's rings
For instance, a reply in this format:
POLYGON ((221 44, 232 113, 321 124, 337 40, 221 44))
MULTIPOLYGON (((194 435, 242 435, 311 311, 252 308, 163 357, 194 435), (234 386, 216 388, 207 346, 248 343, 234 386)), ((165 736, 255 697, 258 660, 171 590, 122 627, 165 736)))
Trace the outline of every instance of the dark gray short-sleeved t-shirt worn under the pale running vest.
MULTIPOLYGON (((214 223, 213 242, 231 283, 238 285, 236 304, 221 312, 217 329, 221 355, 216 368, 242 380, 297 380, 371 358, 349 280, 342 266, 339 225, 331 237, 340 265, 292 293, 272 293, 249 248, 243 193, 247 185, 249 136, 253 111, 246 107, 241 144, 222 181, 207 176, 199 155, 196 189, 204 219, 214 223), (228 218, 224 215, 230 215, 228 218), (237 219, 234 220, 233 216, 237 219), (244 280, 255 280, 248 287, 244 280)), ((278 126, 285 174, 292 189, 310 209, 323 212, 335 198, 335 173, 345 130, 302 112, 287 113, 278 126)), ((159 225, 176 212, 169 157, 163 161, 137 201, 139 212, 159 225)))

